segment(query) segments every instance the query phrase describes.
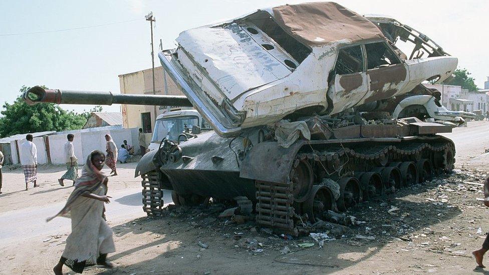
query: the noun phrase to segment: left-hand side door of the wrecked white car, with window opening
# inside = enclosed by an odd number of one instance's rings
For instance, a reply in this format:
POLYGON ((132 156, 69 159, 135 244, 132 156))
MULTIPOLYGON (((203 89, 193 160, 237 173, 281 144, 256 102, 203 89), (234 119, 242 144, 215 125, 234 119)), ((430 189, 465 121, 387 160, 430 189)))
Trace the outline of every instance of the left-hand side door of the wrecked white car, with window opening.
POLYGON ((362 45, 341 48, 335 68, 330 75, 328 97, 330 114, 337 114, 355 106, 368 90, 365 72, 365 54, 362 45))

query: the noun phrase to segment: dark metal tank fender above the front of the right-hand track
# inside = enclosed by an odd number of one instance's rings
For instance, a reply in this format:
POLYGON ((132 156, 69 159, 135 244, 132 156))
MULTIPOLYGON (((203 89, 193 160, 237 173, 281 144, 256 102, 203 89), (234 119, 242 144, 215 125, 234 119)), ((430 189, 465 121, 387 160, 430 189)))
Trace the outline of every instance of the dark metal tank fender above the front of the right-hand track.
POLYGON ((239 177, 287 183, 295 156, 303 145, 303 140, 296 141, 289 148, 275 141, 258 143, 244 157, 239 167, 239 177))

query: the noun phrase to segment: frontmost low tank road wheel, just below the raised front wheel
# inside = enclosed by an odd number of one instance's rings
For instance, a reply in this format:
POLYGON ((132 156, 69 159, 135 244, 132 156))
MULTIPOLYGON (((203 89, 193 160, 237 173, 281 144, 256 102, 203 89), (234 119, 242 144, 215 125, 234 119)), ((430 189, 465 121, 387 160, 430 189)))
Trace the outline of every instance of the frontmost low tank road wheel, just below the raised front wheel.
POLYGON ((311 194, 303 204, 303 210, 309 219, 316 222, 323 212, 335 210, 335 197, 328 186, 314 185, 311 194))

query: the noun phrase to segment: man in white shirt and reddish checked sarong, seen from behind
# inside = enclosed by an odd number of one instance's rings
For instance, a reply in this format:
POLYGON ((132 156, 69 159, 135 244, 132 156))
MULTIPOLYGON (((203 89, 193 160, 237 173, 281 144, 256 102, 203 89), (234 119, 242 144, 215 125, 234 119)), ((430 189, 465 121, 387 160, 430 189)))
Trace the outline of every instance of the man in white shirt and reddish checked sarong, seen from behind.
POLYGON ((24 175, 26 176, 26 191, 28 190, 27 184, 34 182, 34 187, 38 187, 38 149, 36 144, 32 142, 32 135, 26 136, 26 142, 21 145, 21 164, 24 169, 24 175))

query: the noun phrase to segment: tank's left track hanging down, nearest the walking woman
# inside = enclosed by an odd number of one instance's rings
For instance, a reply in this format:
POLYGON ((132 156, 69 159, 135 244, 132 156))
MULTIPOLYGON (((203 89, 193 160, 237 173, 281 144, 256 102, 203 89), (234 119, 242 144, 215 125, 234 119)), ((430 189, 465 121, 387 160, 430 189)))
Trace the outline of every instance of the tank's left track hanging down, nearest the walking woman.
POLYGON ((163 209, 163 189, 158 183, 158 172, 150 171, 141 175, 143 187, 143 210, 148 217, 160 216, 163 209))

